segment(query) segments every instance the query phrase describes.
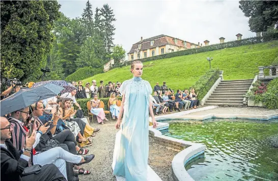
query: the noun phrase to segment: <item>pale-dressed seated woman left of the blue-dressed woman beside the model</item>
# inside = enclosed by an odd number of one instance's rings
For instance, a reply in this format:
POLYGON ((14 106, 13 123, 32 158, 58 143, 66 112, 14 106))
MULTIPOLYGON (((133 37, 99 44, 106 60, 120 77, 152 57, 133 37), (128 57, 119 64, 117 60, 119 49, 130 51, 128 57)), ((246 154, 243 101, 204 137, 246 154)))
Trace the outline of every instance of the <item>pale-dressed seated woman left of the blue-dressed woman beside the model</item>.
POLYGON ((98 108, 100 100, 97 99, 97 94, 94 95, 94 99, 91 100, 91 112, 92 114, 97 116, 97 122, 98 124, 103 125, 103 120, 108 120, 105 117, 104 109, 103 108, 98 108))

